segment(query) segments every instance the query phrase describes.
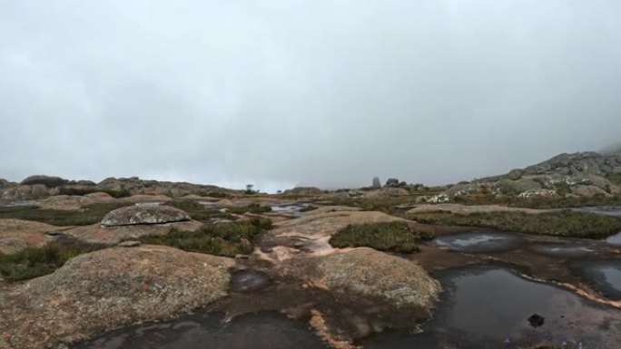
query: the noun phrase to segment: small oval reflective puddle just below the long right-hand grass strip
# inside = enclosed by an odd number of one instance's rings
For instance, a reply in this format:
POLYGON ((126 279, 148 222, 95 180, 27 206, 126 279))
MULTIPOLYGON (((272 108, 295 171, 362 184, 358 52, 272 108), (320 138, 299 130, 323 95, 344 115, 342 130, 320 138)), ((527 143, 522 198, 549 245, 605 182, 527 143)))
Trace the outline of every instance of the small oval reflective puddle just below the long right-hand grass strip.
POLYGON ((473 231, 441 236, 434 242, 439 247, 449 247, 458 252, 493 252, 519 247, 524 239, 505 233, 473 231))

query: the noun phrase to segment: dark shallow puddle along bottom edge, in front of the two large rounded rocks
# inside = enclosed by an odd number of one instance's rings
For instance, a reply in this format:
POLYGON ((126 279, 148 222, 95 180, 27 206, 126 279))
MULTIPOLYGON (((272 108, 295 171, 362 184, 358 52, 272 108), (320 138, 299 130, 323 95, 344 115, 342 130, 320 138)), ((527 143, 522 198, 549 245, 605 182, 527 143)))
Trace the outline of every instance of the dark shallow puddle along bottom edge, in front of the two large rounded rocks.
POLYGON ((185 315, 168 323, 133 325, 74 349, 327 349, 308 325, 275 313, 185 315))

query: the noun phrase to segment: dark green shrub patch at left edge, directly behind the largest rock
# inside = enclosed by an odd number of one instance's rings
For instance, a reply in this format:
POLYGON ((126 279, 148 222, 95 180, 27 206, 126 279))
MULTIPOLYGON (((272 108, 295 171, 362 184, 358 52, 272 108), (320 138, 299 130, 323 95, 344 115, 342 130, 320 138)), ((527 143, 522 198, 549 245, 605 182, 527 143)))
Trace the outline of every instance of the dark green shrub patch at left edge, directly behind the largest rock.
POLYGON ((73 239, 55 240, 44 247, 26 247, 9 255, 0 254, 0 274, 9 281, 27 280, 54 272, 69 259, 104 248, 73 239))

